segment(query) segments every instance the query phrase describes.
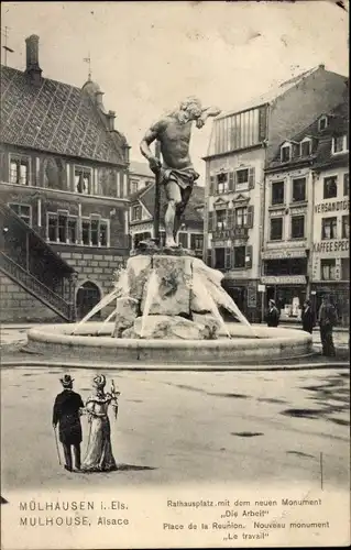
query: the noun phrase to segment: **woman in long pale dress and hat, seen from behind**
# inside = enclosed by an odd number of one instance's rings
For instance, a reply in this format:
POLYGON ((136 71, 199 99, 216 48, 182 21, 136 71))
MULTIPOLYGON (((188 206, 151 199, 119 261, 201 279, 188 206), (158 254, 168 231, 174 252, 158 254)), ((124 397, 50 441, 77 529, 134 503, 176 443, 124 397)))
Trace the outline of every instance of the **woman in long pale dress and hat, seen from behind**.
POLYGON ((108 408, 111 404, 118 408, 118 395, 112 386, 111 393, 105 393, 106 377, 100 374, 94 378, 95 393, 87 399, 86 413, 89 422, 89 441, 81 464, 84 472, 110 472, 116 470, 116 460, 111 446, 111 428, 108 408))

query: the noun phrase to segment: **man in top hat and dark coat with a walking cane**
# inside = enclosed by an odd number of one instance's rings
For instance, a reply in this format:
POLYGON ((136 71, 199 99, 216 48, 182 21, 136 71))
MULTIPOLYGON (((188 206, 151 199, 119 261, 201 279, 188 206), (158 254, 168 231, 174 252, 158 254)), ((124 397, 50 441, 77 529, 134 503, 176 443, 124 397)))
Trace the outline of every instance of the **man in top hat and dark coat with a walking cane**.
POLYGON ((59 381, 64 391, 55 399, 53 427, 55 429, 58 424, 59 441, 64 448, 66 460, 65 469, 72 472, 72 447, 74 449, 76 470, 80 470, 80 409, 84 408, 84 403, 80 395, 73 391, 74 378, 69 374, 65 374, 59 381))

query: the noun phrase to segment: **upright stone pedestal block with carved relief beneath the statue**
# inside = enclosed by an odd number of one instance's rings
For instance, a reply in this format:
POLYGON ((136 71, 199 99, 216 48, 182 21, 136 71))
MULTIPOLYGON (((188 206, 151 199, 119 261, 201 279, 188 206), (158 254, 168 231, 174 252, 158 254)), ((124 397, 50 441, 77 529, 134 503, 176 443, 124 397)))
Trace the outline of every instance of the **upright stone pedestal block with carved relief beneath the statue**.
MULTIPOLYGON (((133 260, 140 257, 134 256, 133 260)), ((189 256, 152 256, 154 275, 150 279, 152 273, 149 273, 141 311, 150 299, 149 315, 189 315, 191 262, 189 256)))

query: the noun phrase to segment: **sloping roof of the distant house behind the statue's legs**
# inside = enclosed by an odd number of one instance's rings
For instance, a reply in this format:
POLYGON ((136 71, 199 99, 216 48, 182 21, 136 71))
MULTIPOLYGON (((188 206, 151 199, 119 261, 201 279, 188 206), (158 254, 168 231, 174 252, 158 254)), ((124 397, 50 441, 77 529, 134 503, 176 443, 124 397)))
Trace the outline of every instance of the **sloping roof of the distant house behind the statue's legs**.
MULTIPOLYGON (((144 189, 141 189, 134 193, 130 197, 131 205, 140 201, 146 210, 151 213, 153 219, 154 216, 154 190, 155 184, 147 186, 144 189)), ((204 219, 198 208, 202 207, 205 204, 205 188, 199 185, 195 185, 193 188, 190 200, 186 207, 184 219, 187 223, 191 224, 204 224, 204 219)), ((163 188, 161 187, 161 208, 160 211, 163 216, 163 212, 166 208, 166 198, 163 188)))

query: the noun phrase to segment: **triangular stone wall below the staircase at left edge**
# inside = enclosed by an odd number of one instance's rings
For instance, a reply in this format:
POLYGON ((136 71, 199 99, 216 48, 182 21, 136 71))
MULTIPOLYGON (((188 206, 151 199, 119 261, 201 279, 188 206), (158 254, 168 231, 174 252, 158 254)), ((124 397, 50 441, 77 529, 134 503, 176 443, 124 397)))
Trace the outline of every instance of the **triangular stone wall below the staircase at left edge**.
POLYGON ((0 273, 0 322, 61 322, 62 319, 12 279, 0 273))

